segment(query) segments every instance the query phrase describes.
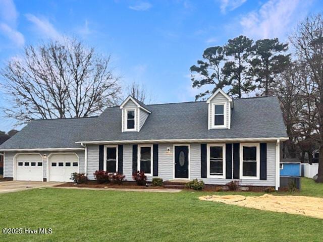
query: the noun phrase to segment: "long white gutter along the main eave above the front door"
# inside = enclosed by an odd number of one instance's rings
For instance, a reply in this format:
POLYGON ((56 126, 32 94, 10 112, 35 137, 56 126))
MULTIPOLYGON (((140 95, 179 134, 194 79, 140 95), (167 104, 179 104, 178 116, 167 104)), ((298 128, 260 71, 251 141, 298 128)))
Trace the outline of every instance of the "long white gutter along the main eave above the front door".
POLYGON ((286 141, 288 137, 269 137, 269 138, 231 138, 231 139, 159 139, 159 140, 98 140, 98 141, 77 141, 77 144, 133 144, 133 143, 196 143, 196 142, 244 142, 244 141, 286 141))

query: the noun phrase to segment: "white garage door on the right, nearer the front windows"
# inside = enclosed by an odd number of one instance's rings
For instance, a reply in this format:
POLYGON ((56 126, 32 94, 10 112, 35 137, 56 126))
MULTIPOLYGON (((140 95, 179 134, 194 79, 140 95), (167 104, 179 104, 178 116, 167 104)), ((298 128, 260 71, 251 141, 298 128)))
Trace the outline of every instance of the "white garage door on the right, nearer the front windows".
POLYGON ((79 158, 75 154, 49 156, 49 181, 72 181, 71 174, 79 172, 79 158))

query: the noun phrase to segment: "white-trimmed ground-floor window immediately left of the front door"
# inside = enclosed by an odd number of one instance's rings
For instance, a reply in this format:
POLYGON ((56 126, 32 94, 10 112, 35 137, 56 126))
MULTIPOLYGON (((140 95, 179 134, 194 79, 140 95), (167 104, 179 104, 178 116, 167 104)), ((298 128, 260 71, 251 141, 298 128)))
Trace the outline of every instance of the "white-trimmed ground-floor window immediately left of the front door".
POLYGON ((152 175, 152 146, 138 146, 138 170, 146 175, 152 175))

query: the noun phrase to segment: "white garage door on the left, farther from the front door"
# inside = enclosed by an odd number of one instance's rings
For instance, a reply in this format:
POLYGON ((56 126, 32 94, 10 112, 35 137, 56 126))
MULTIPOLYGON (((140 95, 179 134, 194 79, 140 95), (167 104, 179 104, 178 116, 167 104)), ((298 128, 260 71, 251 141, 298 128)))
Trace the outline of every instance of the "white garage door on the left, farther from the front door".
POLYGON ((42 157, 39 154, 21 154, 16 157, 16 180, 42 181, 42 157))

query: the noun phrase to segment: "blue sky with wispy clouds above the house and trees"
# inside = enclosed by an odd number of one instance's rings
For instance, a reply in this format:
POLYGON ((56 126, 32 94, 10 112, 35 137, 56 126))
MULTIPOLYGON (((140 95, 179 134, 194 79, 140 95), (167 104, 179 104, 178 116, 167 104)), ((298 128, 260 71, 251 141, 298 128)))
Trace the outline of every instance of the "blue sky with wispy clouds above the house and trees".
MULTIPOLYGON (((191 88, 189 67, 205 48, 240 34, 288 41, 322 7, 319 0, 0 0, 0 67, 25 45, 73 36, 111 54, 123 85, 144 84, 153 103, 191 101, 200 90, 191 88)), ((0 130, 13 127, 0 117, 0 130)))

